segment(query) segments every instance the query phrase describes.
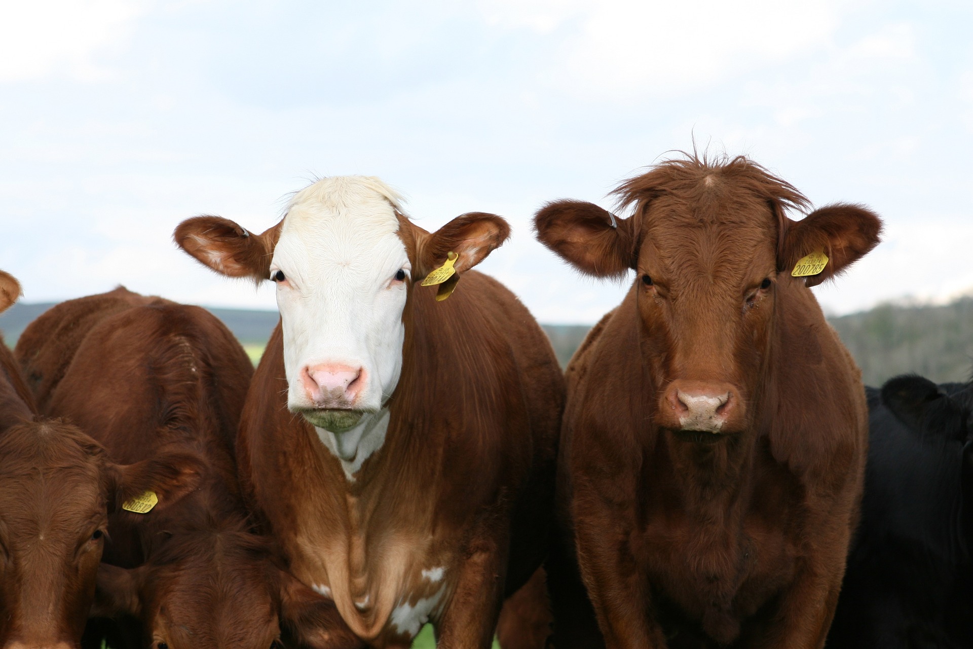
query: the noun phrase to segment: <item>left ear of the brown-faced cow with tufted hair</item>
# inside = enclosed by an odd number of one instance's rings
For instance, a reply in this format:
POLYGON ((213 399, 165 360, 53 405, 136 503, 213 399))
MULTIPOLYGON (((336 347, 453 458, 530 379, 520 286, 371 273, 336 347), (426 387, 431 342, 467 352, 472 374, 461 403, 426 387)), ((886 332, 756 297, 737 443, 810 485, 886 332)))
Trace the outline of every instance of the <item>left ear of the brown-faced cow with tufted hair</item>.
POLYGON ((584 200, 555 200, 534 216, 537 239, 565 262, 595 277, 620 277, 635 263, 634 219, 584 200))

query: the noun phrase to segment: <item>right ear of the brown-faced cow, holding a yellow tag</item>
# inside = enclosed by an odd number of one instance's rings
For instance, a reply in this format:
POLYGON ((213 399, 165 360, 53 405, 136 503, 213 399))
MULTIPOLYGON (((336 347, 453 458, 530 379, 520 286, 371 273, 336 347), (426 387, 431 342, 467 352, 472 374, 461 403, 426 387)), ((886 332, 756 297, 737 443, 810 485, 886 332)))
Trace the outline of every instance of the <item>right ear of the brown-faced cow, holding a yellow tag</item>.
POLYGON ((847 270, 882 240, 882 219, 861 205, 826 205, 800 221, 788 219, 786 223, 778 270, 792 272, 812 252, 828 256, 824 270, 807 278, 808 286, 847 270))

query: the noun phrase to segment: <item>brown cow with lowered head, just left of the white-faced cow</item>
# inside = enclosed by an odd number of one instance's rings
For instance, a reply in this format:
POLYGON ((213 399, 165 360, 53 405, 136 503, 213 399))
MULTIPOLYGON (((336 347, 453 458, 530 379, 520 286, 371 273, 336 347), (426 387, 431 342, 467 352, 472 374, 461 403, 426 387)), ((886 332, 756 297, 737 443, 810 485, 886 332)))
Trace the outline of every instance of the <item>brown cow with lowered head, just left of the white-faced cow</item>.
POLYGON ((177 506, 111 517, 95 612, 126 613, 172 649, 267 649, 281 627, 314 647, 357 646, 334 604, 272 562, 249 532, 234 438, 253 372, 227 328, 198 306, 116 289, 65 302, 22 334, 17 354, 41 409, 69 417, 114 457, 204 458, 177 506), (278 624, 279 621, 279 624, 278 624))

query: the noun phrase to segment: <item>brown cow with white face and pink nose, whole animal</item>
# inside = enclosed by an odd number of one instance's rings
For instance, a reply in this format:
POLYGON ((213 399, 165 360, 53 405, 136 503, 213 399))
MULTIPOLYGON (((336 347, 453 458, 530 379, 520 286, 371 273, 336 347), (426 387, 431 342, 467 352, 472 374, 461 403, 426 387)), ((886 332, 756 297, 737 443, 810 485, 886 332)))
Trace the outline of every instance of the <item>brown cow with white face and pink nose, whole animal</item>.
POLYGON ((294 574, 373 646, 431 621, 440 647, 488 647, 546 552, 563 379, 526 308, 470 270, 508 232, 473 213, 429 234, 378 179, 346 176, 264 234, 218 217, 175 233, 214 270, 276 283, 241 482, 294 574), (417 283, 437 267, 458 272, 441 302, 417 283))

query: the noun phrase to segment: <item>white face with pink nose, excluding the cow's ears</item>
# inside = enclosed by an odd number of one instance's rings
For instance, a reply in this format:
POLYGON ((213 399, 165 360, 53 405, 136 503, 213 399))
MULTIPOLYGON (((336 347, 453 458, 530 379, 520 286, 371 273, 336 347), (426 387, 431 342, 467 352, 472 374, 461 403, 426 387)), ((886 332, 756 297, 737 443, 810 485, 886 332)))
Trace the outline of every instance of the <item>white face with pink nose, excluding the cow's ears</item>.
POLYGON ((334 433, 377 414, 402 371, 412 267, 397 203, 377 179, 320 180, 293 199, 273 250, 288 408, 334 433))

